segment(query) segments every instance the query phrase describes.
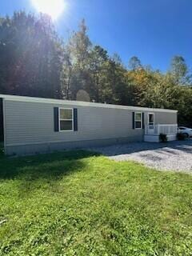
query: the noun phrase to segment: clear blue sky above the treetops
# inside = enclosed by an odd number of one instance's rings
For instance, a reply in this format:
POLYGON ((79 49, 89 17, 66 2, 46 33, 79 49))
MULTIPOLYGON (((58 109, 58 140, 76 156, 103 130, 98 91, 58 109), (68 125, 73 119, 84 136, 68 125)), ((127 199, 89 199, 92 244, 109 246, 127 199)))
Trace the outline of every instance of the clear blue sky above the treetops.
MULTIPOLYGON (((63 38, 85 18, 91 41, 118 53, 125 64, 136 55, 143 64, 164 71, 179 54, 192 66, 191 0, 63 1, 67 8, 55 22, 63 38)), ((34 12, 31 0, 1 0, 2 16, 14 10, 34 12)))

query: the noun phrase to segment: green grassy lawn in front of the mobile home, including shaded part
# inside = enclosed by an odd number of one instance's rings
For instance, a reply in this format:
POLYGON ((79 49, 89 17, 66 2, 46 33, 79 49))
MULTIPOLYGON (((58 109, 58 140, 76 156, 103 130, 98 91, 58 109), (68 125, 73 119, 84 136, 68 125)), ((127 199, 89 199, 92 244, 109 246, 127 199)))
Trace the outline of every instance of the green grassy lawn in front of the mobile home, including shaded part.
POLYGON ((192 176, 85 151, 0 159, 0 255, 192 255, 192 176))

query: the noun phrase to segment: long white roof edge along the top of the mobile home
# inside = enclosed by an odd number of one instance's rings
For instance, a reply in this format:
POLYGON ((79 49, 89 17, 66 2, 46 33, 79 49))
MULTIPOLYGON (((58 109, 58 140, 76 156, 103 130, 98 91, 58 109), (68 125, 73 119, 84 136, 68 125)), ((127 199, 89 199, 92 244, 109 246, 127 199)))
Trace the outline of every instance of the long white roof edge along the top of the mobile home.
POLYGON ((122 110, 137 110, 137 111, 153 111, 153 112, 170 112, 177 113, 178 110, 168 110, 168 109, 158 109, 158 108, 149 108, 141 106, 122 106, 106 103, 95 103, 95 102, 78 102, 70 101, 63 99, 54 99, 54 98, 36 98, 36 97, 26 97, 26 96, 16 96, 8 94, 0 94, 0 98, 4 98, 10 101, 18 102, 39 102, 39 103, 52 103, 57 105, 75 105, 75 106, 92 106, 92 107, 102 107, 102 108, 112 108, 112 109, 122 109, 122 110))

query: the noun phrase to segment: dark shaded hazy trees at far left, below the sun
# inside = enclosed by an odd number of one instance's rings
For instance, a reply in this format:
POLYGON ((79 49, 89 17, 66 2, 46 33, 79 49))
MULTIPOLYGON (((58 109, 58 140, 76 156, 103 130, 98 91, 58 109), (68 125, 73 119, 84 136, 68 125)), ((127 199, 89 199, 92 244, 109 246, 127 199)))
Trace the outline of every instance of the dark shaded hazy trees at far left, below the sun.
POLYGON ((60 98, 62 42, 48 16, 1 18, 0 56, 2 93, 60 98))

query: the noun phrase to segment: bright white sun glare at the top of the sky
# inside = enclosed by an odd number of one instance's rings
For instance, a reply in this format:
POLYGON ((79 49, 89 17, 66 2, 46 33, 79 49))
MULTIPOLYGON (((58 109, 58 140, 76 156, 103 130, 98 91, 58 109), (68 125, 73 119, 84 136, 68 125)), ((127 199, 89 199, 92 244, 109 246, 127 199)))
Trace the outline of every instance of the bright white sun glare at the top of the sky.
POLYGON ((49 14, 51 18, 57 19, 65 9, 64 0, 31 0, 34 8, 43 14, 49 14))

